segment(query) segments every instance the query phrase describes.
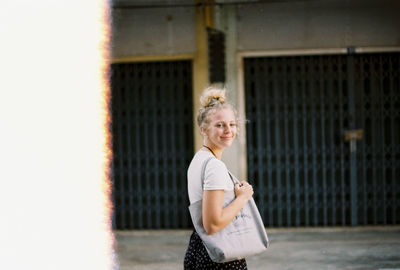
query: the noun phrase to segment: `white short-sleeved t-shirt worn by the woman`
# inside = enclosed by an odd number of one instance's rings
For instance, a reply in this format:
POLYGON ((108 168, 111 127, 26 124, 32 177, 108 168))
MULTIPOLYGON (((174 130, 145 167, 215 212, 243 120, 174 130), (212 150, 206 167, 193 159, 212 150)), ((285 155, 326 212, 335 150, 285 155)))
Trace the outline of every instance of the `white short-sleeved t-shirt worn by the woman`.
MULTIPOLYGON (((214 157, 208 151, 198 151, 190 162, 187 172, 188 193, 190 203, 203 199, 203 189, 201 185, 201 169, 204 161, 214 157)), ((228 169, 224 162, 217 158, 211 159, 207 163, 204 173, 204 190, 233 190, 234 186, 228 174, 228 169)))

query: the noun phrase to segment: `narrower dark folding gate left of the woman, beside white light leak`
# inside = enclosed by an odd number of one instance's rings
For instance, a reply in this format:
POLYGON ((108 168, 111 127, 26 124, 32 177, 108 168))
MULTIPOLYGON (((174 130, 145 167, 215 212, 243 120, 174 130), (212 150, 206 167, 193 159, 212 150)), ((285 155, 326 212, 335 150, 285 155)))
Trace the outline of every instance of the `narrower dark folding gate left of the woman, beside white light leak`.
POLYGON ((111 66, 116 229, 188 227, 191 61, 111 66))

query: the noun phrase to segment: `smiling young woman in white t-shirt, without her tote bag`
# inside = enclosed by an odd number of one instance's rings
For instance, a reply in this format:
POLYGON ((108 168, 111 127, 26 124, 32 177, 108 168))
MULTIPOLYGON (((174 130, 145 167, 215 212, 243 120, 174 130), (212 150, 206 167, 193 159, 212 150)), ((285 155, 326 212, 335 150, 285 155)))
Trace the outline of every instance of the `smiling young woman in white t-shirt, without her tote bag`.
MULTIPOLYGON (((193 157, 188 169, 188 192, 190 203, 203 200, 203 226, 213 234, 228 225, 253 195, 247 182, 233 186, 228 169, 221 161, 222 152, 232 145, 237 132, 237 116, 233 106, 226 102, 225 91, 207 88, 200 98, 197 123, 203 135, 203 146, 193 157), (203 163, 206 166, 202 187, 203 163), (224 193, 234 190, 236 198, 224 201, 224 193)), ((247 269, 246 260, 226 263, 213 262, 199 235, 194 230, 184 260, 184 269, 247 269)))

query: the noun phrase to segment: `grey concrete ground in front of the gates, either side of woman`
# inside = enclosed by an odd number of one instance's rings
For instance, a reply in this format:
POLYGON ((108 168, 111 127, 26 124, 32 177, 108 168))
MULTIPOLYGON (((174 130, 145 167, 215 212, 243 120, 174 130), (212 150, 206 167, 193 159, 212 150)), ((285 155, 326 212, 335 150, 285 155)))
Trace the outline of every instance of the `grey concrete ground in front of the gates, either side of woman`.
MULTIPOLYGON (((267 230, 249 270, 400 270, 400 226, 267 230)), ((191 231, 117 231, 120 270, 183 269, 191 231)))

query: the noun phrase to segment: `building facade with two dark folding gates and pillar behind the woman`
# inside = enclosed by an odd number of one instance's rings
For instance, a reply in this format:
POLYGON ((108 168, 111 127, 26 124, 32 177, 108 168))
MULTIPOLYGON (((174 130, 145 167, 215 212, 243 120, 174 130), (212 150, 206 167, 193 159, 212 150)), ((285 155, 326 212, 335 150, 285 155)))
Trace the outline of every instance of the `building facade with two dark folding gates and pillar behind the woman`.
POLYGON ((223 159, 255 186, 266 226, 399 224, 399 11, 387 0, 115 1, 116 228, 191 226, 186 168, 211 83, 246 120, 223 159))

